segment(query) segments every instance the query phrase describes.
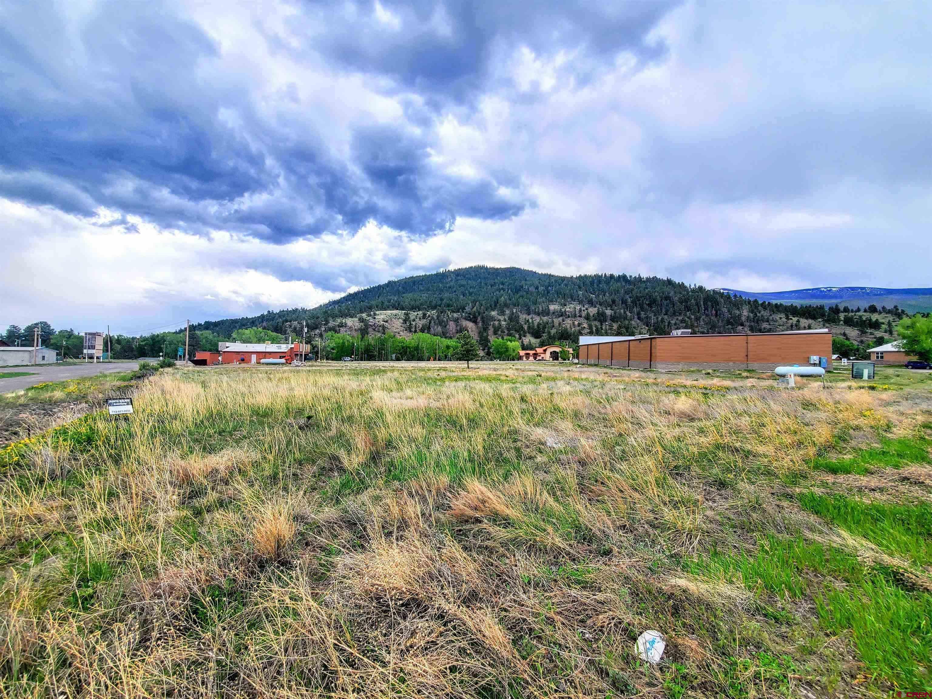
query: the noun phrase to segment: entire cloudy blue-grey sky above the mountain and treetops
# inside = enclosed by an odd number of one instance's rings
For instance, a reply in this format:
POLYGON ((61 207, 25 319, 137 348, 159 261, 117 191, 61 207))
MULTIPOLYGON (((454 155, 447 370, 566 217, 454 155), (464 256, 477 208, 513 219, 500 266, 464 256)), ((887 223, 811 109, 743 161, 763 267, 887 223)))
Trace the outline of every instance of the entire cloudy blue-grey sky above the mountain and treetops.
POLYGON ((0 323, 441 268, 932 286, 927 3, 0 4, 0 323))

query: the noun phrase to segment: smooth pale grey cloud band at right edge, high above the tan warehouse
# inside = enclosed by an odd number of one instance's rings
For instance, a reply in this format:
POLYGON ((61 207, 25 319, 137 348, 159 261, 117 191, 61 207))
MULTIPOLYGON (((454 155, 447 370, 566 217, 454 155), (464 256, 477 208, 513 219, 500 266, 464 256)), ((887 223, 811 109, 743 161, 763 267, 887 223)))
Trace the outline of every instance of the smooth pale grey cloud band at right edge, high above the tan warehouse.
POLYGON ((651 193, 673 211, 695 199, 791 201, 846 177, 884 186, 932 182, 930 123, 932 109, 912 105, 852 115, 799 104, 701 138, 658 132, 647 159, 660 186, 651 193))

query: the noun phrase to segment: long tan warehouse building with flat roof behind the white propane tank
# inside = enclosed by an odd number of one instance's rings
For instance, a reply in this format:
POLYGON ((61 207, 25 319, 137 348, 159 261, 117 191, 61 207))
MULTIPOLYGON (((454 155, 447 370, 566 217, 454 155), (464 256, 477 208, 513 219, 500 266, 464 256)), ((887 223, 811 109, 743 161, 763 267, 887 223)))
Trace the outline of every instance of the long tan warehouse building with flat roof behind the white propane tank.
MULTIPOLYGON (((826 357, 831 368, 831 333, 795 330, 744 335, 646 336, 583 343, 581 364, 630 366, 637 369, 758 369, 809 363, 826 357)), ((599 338, 601 339, 601 338, 599 338)))

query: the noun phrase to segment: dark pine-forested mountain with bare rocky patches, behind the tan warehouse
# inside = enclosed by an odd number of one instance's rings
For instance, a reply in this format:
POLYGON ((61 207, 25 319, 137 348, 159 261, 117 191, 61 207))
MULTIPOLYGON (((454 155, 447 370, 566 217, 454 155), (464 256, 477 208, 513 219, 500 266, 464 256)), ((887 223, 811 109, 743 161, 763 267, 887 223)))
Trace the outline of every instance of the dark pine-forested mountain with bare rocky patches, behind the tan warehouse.
POLYGON ((308 335, 323 329, 448 337, 467 328, 485 347, 489 337, 505 335, 530 343, 575 342, 580 334, 665 335, 680 327, 697 333, 763 332, 806 327, 803 321, 817 322, 826 313, 825 308, 761 303, 659 277, 561 277, 516 267, 465 267, 389 281, 318 308, 194 327, 220 336, 253 326, 299 336, 307 322, 308 335))

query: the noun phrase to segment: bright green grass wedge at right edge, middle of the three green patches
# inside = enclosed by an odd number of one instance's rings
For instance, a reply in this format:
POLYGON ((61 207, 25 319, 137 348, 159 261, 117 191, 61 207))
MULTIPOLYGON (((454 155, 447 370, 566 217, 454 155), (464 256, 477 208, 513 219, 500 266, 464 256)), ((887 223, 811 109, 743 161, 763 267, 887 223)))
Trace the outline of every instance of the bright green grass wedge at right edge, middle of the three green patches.
POLYGON ((804 492, 800 504, 851 534, 864 537, 891 554, 905 555, 920 566, 932 564, 932 506, 898 505, 804 492))

